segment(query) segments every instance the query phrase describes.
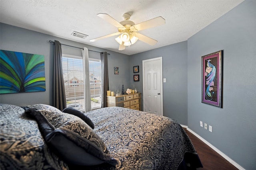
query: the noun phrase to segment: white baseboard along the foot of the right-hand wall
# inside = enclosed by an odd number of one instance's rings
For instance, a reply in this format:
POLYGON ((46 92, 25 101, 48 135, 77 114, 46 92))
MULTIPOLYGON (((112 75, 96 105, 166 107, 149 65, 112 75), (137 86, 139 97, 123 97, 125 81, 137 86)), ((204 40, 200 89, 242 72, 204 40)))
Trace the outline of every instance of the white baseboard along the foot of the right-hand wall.
MULTIPOLYGON (((182 126, 182 125, 181 125, 182 126)), ((183 126, 182 126, 183 127, 183 126)), ((196 137, 198 137, 198 139, 200 139, 201 141, 203 141, 206 145, 208 145, 210 148, 212 148, 213 150, 215 150, 218 154, 220 154, 220 156, 222 156, 223 158, 225 158, 228 162, 230 162, 232 165, 234 165, 236 168, 238 168, 239 170, 245 170, 242 166, 240 166, 238 163, 236 163, 234 160, 232 160, 230 157, 228 157, 226 154, 224 154, 223 152, 221 152, 220 150, 218 150, 216 147, 214 147, 212 144, 210 144, 208 141, 206 141, 204 138, 200 137, 198 134, 196 134, 194 131, 192 131, 191 129, 188 128, 187 126, 187 130, 190 131, 193 135, 195 135, 196 137)))

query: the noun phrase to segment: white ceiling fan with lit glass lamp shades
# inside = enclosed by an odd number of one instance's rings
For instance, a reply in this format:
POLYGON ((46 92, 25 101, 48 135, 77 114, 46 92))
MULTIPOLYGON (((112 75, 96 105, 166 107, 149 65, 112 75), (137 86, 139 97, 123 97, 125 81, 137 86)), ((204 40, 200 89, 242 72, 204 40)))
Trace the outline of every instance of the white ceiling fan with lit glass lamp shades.
POLYGON ((153 18, 151 20, 147 20, 147 21, 138 23, 136 25, 133 21, 129 20, 130 14, 128 14, 128 13, 125 13, 122 16, 124 18, 124 21, 121 21, 121 22, 116 21, 114 18, 112 18, 108 14, 100 13, 100 14, 97 14, 97 16, 99 16, 100 18, 108 21, 109 23, 111 23, 112 25, 117 27, 118 32, 112 33, 109 35, 104 35, 102 37, 98 37, 95 39, 91 39, 90 41, 94 42, 94 41, 97 41, 100 39, 104 39, 104 38, 108 38, 108 37, 112 37, 112 36, 121 34, 120 36, 116 37, 116 41, 120 44, 118 50, 124 50, 125 46, 130 46, 130 45, 136 43, 136 41, 138 39, 140 41, 143 41, 144 43, 148 43, 150 45, 155 45, 157 43, 156 40, 154 40, 150 37, 147 37, 145 35, 142 35, 141 33, 138 33, 137 31, 165 24, 165 20, 161 16, 153 18))

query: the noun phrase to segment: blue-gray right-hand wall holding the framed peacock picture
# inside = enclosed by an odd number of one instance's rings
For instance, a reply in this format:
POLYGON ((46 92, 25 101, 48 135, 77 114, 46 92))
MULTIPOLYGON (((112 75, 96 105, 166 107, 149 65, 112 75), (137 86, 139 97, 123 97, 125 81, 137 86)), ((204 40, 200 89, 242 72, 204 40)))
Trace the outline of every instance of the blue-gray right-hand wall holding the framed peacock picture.
POLYGON ((248 170, 256 169, 255 9, 244 1, 188 39, 188 127, 248 170), (223 108, 201 103, 201 56, 219 50, 223 108))

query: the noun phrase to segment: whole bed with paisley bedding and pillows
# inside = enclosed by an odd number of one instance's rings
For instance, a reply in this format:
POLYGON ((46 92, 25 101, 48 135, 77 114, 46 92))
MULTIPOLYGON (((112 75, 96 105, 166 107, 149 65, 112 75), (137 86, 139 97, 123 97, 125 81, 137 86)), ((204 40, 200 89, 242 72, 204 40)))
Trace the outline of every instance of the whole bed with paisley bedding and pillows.
POLYGON ((1 169, 176 170, 202 167, 184 129, 168 117, 123 107, 106 107, 79 115, 77 111, 64 113, 44 104, 15 107, 18 113, 14 114, 6 104, 0 106, 1 169), (24 123, 27 128, 20 128, 24 123), (14 135, 19 136, 10 135, 13 128, 16 129, 14 135), (37 140, 32 141, 31 137, 35 136, 37 140), (32 141, 32 146, 21 150, 10 147, 15 144, 18 148, 26 141, 32 141), (30 160, 20 161, 22 155, 28 156, 28 153, 38 157, 34 158, 36 164, 30 160))

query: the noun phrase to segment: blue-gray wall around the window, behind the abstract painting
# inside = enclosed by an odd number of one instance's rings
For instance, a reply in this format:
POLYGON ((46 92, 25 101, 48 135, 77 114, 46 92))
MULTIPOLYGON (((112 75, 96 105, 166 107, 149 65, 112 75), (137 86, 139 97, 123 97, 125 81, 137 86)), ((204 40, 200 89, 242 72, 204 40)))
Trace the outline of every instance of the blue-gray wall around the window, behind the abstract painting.
MULTIPOLYGON (((77 43, 67 39, 54 37, 51 35, 30 31, 20 27, 14 27, 0 23, 0 49, 8 51, 18 51, 23 53, 32 53, 44 55, 45 59, 45 77, 46 91, 45 92, 30 92, 16 94, 1 94, 0 102, 6 104, 14 104, 17 106, 27 106, 29 104, 52 104, 52 70, 53 70, 53 54, 54 45, 49 43, 49 40, 58 40, 62 44, 72 45, 76 47, 87 47, 93 51, 107 51, 108 55, 108 72, 110 90, 121 88, 122 84, 128 86, 130 78, 126 76, 129 72, 129 56, 106 49, 100 49, 90 45, 77 43), (114 66, 119 66, 120 73, 114 75, 114 66)), ((82 55, 80 49, 67 47, 62 45, 62 51, 69 55, 82 55)), ((89 51, 89 57, 100 58, 100 53, 89 51)))

